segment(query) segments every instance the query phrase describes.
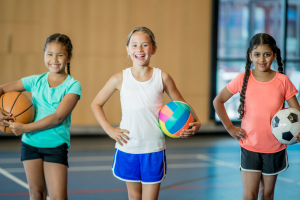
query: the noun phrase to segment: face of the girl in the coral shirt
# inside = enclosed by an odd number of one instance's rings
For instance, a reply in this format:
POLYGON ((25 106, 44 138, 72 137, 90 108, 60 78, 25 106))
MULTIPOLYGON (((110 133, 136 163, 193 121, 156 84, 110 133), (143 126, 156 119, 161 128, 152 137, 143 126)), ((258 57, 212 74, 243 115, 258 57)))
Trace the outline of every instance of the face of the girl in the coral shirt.
POLYGON ((249 56, 255 66, 255 70, 260 72, 270 71, 272 62, 276 58, 276 54, 274 54, 269 45, 258 45, 256 48, 253 48, 249 56))

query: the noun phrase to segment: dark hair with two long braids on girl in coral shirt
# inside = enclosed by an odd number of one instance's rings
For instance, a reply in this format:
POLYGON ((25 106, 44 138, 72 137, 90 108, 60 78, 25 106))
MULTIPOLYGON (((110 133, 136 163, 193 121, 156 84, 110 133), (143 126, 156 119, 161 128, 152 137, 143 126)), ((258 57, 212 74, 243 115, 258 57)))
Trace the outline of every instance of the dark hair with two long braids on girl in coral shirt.
POLYGON ((243 79, 243 86, 242 91, 240 94, 240 106, 238 108, 238 113, 240 114, 239 119, 242 119, 245 114, 245 94, 248 84, 248 79, 250 76, 250 68, 252 61, 250 60, 250 54, 253 49, 255 49, 258 45, 269 45, 269 47, 272 49, 273 53, 276 54, 276 60, 278 65, 278 72, 283 74, 283 64, 281 59, 281 51, 276 45, 276 41, 272 36, 266 33, 258 33, 254 35, 250 42, 249 47, 247 49, 247 56, 246 56, 246 67, 245 67, 245 75, 243 79))

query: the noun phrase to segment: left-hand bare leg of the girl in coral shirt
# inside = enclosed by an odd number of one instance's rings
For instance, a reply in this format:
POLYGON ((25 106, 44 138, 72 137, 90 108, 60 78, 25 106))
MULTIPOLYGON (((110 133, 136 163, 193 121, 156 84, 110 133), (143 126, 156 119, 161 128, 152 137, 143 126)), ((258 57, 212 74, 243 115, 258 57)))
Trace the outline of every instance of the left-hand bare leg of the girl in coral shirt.
POLYGON ((261 173, 243 170, 241 170, 241 172, 243 181, 243 200, 257 200, 261 173))

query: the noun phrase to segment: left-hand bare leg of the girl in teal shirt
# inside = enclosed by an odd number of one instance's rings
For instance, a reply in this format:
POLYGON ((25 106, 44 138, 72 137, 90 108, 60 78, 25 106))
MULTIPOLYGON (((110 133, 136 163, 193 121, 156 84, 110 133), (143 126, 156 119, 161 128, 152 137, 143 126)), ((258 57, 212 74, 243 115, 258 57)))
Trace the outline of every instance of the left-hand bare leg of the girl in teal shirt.
POLYGON ((42 159, 23 161, 27 182, 29 184, 30 200, 45 200, 47 197, 43 163, 44 161, 42 159))

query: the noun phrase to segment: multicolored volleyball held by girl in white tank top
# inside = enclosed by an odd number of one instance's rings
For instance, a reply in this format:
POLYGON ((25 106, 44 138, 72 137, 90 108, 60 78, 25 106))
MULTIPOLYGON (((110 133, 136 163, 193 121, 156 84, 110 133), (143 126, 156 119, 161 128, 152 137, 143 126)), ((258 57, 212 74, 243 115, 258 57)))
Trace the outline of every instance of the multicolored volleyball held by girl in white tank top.
POLYGON ((194 120, 193 110, 182 101, 171 101, 166 104, 158 116, 161 130, 171 138, 180 138, 182 129, 188 129, 194 120))

